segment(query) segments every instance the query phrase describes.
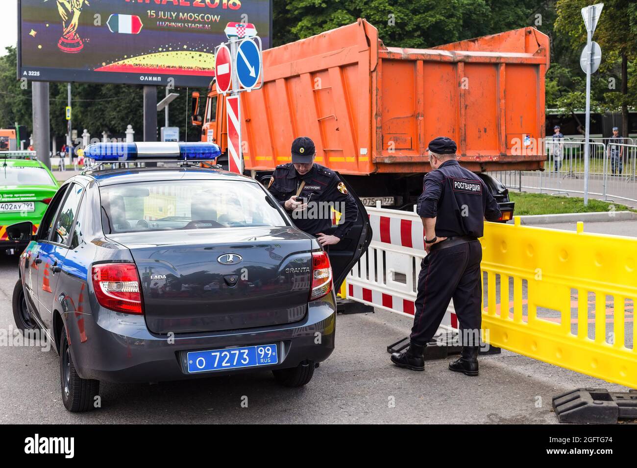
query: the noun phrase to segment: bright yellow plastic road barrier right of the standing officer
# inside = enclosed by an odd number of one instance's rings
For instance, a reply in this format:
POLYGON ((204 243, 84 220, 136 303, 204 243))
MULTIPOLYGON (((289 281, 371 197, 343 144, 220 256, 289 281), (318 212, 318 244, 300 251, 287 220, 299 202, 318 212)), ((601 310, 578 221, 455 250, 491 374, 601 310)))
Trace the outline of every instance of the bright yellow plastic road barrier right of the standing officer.
POLYGON ((485 223, 480 241, 485 341, 637 388, 634 328, 626 336, 637 239, 588 234, 582 222, 577 232, 522 226, 516 216, 515 225, 485 223))

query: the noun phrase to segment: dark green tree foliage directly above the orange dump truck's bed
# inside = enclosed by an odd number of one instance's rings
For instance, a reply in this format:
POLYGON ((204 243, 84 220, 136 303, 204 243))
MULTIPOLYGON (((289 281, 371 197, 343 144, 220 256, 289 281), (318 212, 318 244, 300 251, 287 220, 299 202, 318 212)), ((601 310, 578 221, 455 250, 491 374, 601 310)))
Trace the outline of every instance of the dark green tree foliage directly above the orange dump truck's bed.
POLYGON ((366 18, 390 46, 431 47, 533 25, 533 0, 275 0, 275 45, 366 18), (279 25, 285 24, 280 29, 279 25))

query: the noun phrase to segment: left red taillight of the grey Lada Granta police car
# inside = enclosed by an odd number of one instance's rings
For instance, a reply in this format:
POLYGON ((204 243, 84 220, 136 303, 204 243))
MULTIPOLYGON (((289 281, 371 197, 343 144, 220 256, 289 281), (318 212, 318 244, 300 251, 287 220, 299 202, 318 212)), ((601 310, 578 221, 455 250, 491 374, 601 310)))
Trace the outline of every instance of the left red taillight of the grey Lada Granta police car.
POLYGON ((97 302, 107 309, 143 314, 140 276, 132 263, 105 263, 93 267, 97 302))

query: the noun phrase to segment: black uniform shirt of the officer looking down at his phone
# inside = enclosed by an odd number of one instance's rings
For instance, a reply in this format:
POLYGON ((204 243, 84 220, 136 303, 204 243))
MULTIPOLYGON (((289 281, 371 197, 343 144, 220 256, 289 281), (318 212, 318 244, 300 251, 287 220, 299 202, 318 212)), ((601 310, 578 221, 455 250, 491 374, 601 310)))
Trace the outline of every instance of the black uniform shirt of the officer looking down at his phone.
POLYGON ((292 162, 281 164, 276 166, 272 179, 268 184, 268 190, 285 209, 285 201, 292 195, 296 195, 303 181, 305 185, 299 197, 310 199, 308 209, 311 209, 312 204, 315 202, 338 203, 335 206, 342 216, 337 225, 334 217, 326 213, 327 210, 317 209, 316 212, 320 212, 320 216, 311 216, 312 219, 293 217, 294 224, 304 232, 308 232, 308 234, 315 235, 323 232, 324 234, 333 234, 342 239, 352 229, 352 225, 358 218, 358 206, 352 195, 347 193, 345 184, 334 171, 315 163, 307 174, 301 176, 294 169, 292 162))

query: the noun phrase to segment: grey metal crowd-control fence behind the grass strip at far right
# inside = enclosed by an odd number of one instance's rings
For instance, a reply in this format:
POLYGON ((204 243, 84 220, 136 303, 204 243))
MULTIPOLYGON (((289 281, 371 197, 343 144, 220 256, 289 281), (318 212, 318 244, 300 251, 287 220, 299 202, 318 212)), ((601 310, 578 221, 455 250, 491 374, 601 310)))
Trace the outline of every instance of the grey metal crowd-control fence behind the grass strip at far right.
MULTIPOLYGON (((629 139, 626 139, 629 140, 629 139)), ((491 173, 508 188, 550 194, 584 193, 584 143, 564 139, 545 142, 544 171, 491 173)), ((598 199, 637 202, 637 145, 589 144, 589 195, 598 199)))

